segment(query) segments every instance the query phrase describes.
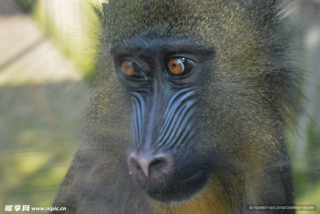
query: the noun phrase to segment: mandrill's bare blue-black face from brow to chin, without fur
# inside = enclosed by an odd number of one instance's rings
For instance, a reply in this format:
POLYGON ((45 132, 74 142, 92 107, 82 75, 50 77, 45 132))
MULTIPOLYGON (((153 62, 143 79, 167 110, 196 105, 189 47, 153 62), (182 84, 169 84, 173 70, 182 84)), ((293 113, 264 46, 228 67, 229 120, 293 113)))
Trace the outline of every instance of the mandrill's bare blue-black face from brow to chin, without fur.
MULTIPOLYGON (((197 135, 198 84, 212 53, 190 51, 189 40, 144 34, 116 43, 118 78, 132 100, 130 174, 155 201, 178 203, 200 191, 211 171, 211 154, 197 135)), ((200 124, 201 125, 201 124, 200 124)))

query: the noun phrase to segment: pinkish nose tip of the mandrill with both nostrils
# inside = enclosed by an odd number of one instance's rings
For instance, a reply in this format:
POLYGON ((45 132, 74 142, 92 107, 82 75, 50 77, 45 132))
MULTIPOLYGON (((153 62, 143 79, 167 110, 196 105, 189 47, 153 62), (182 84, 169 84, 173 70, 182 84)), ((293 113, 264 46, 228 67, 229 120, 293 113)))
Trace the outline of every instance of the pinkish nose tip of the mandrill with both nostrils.
POLYGON ((164 184, 173 171, 173 161, 169 155, 146 155, 132 153, 128 167, 133 178, 142 186, 159 187, 164 184))

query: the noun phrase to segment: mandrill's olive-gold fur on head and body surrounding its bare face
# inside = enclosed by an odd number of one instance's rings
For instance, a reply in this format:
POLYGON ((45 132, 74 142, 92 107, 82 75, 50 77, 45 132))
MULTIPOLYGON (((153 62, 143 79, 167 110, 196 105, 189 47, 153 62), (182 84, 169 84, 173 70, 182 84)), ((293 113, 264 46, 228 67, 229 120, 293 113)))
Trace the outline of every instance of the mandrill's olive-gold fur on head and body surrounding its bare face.
POLYGON ((99 87, 54 205, 69 213, 241 213, 247 204, 292 204, 284 132, 297 110, 299 73, 284 9, 271 0, 109 0, 96 7, 99 87), (214 53, 196 85, 203 111, 195 129, 219 164, 184 203, 152 201, 128 172, 131 102, 111 52, 138 35, 214 53))

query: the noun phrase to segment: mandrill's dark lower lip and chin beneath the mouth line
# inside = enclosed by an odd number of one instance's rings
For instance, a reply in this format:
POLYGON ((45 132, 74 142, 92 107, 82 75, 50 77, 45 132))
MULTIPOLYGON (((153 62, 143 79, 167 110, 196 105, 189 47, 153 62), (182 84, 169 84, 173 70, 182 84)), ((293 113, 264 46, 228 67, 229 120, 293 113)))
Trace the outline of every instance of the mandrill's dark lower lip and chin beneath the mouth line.
POLYGON ((209 176, 209 170, 202 170, 186 179, 168 182, 163 188, 146 188, 145 190, 157 203, 173 206, 184 203, 199 193, 207 184, 209 176))

